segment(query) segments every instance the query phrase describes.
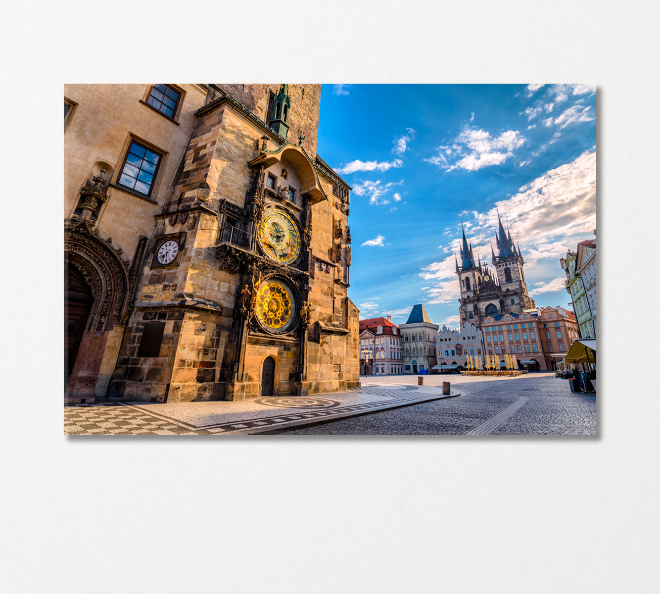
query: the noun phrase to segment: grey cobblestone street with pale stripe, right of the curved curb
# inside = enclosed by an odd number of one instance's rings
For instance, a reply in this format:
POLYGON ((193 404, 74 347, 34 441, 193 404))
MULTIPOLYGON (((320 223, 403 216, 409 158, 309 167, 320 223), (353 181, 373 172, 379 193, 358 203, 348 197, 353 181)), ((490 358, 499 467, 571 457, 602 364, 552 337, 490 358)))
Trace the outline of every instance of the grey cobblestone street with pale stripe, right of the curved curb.
POLYGON ((566 380, 550 374, 470 379, 452 383, 461 392, 459 398, 301 428, 286 435, 596 434, 596 395, 573 393, 566 380))

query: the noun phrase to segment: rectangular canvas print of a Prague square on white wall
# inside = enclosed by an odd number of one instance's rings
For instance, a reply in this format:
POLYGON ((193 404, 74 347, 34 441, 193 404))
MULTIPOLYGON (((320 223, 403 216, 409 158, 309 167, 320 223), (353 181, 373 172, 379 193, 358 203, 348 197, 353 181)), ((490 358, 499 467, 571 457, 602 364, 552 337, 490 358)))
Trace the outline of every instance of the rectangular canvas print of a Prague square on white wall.
POLYGON ((596 98, 65 84, 65 434, 597 434, 596 98))

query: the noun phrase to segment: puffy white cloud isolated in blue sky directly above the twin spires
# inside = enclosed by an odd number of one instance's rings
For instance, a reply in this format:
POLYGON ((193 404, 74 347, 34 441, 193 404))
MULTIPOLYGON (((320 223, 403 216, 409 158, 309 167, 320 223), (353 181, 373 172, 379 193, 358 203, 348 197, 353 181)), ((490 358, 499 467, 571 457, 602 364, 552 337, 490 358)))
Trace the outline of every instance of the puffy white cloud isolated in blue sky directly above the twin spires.
MULTIPOLYGON (((507 130, 498 137, 492 137, 485 130, 466 124, 451 146, 451 149, 455 151, 455 158, 461 157, 459 160, 449 164, 442 152, 424 160, 446 169, 447 172, 454 169, 476 171, 482 167, 504 162, 513 156, 513 150, 524 145, 526 140, 518 131, 507 130)), ((438 151, 448 148, 439 147, 438 151)))

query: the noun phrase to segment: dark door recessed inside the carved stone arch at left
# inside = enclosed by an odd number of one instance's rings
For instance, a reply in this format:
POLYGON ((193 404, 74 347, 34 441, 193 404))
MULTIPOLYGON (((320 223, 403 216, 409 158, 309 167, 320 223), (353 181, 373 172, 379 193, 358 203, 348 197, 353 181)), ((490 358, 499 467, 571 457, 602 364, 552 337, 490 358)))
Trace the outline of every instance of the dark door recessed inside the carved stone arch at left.
POLYGON ((64 271, 64 385, 76 362, 89 312, 92 309, 92 290, 82 275, 70 266, 64 271))

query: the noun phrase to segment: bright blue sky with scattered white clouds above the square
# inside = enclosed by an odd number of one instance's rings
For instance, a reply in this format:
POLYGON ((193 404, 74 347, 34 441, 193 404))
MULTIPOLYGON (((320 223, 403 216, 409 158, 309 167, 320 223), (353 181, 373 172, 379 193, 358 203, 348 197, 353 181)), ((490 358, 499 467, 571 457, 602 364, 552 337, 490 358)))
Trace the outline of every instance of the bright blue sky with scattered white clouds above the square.
POLYGON ((352 187, 348 296, 458 327, 461 220, 490 263, 499 209, 537 306, 569 307, 559 259, 596 227, 593 84, 324 84, 318 154, 352 187))

